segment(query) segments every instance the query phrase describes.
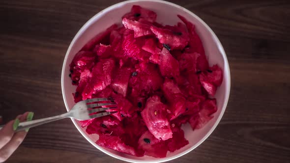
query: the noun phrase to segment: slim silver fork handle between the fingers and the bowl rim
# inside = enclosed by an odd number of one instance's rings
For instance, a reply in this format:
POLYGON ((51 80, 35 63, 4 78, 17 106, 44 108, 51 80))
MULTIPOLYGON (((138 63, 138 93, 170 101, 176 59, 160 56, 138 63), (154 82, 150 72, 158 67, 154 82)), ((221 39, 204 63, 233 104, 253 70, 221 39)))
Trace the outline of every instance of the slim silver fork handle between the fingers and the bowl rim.
MULTIPOLYGON (((19 123, 19 126, 15 132, 29 129, 29 128, 32 128, 35 126, 43 125, 43 124, 46 124, 49 122, 57 121, 59 119, 63 119, 63 118, 67 118, 67 117, 70 117, 70 112, 66 112, 64 114, 60 114, 60 115, 56 115, 56 116, 52 116, 52 117, 48 117, 48 118, 36 119, 36 120, 32 120, 32 121, 27 121, 27 122, 21 122, 21 123, 19 123)), ((2 127, 0 127, 0 130, 1 129, 2 129, 2 127)))

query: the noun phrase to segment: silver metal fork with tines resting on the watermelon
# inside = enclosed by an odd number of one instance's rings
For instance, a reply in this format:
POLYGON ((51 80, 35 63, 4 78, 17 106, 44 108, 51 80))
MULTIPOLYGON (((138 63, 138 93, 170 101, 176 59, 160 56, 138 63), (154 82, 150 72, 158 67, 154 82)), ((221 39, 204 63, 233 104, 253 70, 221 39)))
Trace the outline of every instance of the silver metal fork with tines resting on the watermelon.
MULTIPOLYGON (((42 124, 46 124, 49 122, 57 121, 63 118, 75 118, 77 120, 88 120, 92 118, 98 118, 98 117, 116 113, 116 111, 100 112, 100 113, 96 113, 96 112, 105 111, 108 109, 116 109, 116 108, 117 108, 116 103, 114 99, 112 98, 88 99, 88 100, 78 102, 77 104, 74 105, 74 107, 71 110, 69 110, 66 113, 63 113, 57 116, 48 117, 48 118, 36 119, 36 120, 28 121, 28 122, 21 122, 16 132, 25 130, 31 127, 39 126, 42 124), (100 102, 106 102, 106 103, 100 103, 100 102), (107 107, 107 106, 110 106, 110 107, 107 107), (105 108, 96 108, 96 107, 105 107, 105 108)), ((0 126, 0 130, 2 129, 2 127, 3 126, 0 126)))

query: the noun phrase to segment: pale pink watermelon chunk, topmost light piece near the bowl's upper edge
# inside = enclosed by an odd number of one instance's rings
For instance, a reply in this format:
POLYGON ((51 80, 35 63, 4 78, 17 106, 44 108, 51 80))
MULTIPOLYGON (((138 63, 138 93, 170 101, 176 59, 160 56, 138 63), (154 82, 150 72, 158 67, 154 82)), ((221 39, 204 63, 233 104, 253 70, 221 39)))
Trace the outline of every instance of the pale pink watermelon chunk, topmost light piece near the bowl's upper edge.
POLYGON ((150 25, 140 23, 137 21, 132 21, 127 18, 122 20, 122 24, 125 28, 134 30, 134 37, 141 37, 145 35, 153 34, 150 30, 150 25))

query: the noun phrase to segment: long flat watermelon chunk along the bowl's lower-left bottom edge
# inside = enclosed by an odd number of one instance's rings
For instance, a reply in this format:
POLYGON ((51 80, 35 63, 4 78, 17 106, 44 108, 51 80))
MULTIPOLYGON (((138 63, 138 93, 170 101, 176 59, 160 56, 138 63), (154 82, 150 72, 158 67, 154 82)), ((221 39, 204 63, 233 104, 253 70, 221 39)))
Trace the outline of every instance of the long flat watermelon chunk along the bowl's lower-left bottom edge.
POLYGON ((118 152, 140 157, 138 152, 136 152, 133 147, 126 145, 118 136, 100 135, 99 139, 96 141, 96 144, 118 152))

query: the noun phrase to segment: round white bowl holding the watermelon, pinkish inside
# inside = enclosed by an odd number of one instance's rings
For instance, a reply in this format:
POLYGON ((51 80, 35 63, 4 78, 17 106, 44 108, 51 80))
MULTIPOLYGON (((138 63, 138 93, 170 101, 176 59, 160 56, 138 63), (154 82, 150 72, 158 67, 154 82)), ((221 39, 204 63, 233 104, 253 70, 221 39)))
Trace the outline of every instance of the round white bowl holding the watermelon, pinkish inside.
POLYGON ((213 132, 225 112, 230 95, 230 69, 223 46, 214 32, 203 22, 203 20, 201 20, 198 16, 189 10, 167 1, 129 0, 112 5, 93 16, 76 34, 65 55, 61 72, 61 90, 63 100, 67 111, 75 104, 72 93, 75 92, 76 87, 71 84, 71 79, 69 78, 69 64, 71 63, 74 55, 97 33, 104 31, 107 27, 114 23, 121 24, 122 15, 129 12, 132 5, 134 4, 155 11, 157 13, 158 23, 163 23, 164 25, 175 25, 177 22, 180 22, 176 16, 179 14, 184 16, 187 20, 195 25, 196 32, 202 39, 205 54, 208 57, 209 64, 218 64, 223 69, 223 83, 218 88, 215 95, 215 98, 217 99, 218 110, 216 113, 214 113, 214 118, 199 130, 192 131, 189 125, 183 126, 185 138, 189 141, 189 144, 179 150, 174 151, 173 153, 168 152, 166 158, 162 159, 148 156, 134 157, 98 146, 95 144, 95 141, 98 139, 98 135, 88 135, 86 130, 83 129, 77 121, 74 119, 72 119, 72 121, 79 132, 87 139, 87 141, 89 141, 97 149, 114 158, 127 162, 139 163, 166 162, 185 155, 186 153, 195 149, 213 132))

